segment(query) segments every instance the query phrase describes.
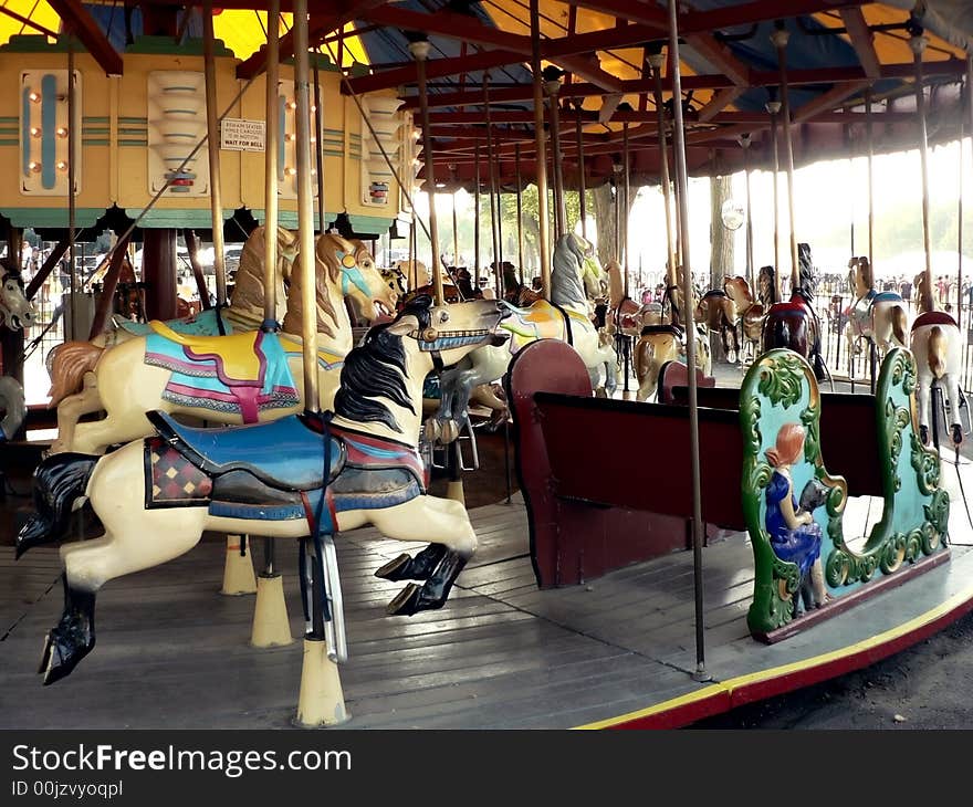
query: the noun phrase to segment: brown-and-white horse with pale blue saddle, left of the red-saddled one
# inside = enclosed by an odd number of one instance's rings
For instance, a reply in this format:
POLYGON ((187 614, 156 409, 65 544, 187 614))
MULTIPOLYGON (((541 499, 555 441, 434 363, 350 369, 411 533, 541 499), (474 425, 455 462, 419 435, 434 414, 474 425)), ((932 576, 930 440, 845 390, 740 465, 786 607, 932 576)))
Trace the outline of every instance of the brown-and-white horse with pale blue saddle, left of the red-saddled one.
POLYGON ((868 258, 848 261, 848 284, 855 290, 855 302, 848 308, 845 339, 849 354, 859 353, 860 339, 875 345, 878 360, 893 347, 906 347, 909 314, 898 292, 879 292, 868 258))

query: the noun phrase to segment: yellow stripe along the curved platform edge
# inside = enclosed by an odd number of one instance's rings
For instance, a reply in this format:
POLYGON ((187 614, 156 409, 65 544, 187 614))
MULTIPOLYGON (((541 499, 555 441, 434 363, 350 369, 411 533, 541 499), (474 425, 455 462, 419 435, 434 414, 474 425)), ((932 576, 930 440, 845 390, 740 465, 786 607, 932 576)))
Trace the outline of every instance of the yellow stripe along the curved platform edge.
POLYGON ((705 701, 720 693, 725 693, 726 695, 730 695, 732 698, 732 694, 735 690, 752 687, 753 684, 761 681, 783 678, 784 675, 789 675, 794 672, 809 670, 815 667, 827 664, 837 659, 871 650, 873 648, 881 647, 882 644, 888 644, 889 642, 894 641, 902 636, 911 633, 931 622, 934 622, 937 619, 949 614, 951 610, 955 609, 963 602, 969 601, 971 598, 973 598, 973 586, 964 588, 962 591, 954 594, 952 597, 950 597, 944 602, 938 605, 935 608, 931 608, 924 614, 920 614, 918 617, 910 619, 908 622, 903 622, 902 625, 890 628, 889 630, 886 630, 868 639, 864 639, 862 641, 856 642, 854 644, 848 644, 840 650, 833 650, 831 652, 822 653, 820 656, 813 656, 809 659, 804 659, 803 661, 795 661, 789 664, 773 667, 768 670, 761 670, 758 672, 747 673, 746 675, 737 675, 736 678, 726 679, 726 681, 723 681, 722 683, 710 684, 709 687, 704 687, 697 692, 690 692, 688 694, 680 695, 679 698, 672 698, 668 701, 662 701, 661 703, 657 703, 646 709, 640 709, 635 712, 628 712, 627 714, 620 714, 616 717, 607 717, 605 720, 599 720, 594 723, 585 723, 584 725, 573 726, 573 731, 611 729, 613 726, 621 725, 622 723, 628 723, 630 721, 639 720, 641 717, 650 717, 656 714, 665 714, 666 712, 671 712, 676 709, 689 705, 691 703, 705 701))

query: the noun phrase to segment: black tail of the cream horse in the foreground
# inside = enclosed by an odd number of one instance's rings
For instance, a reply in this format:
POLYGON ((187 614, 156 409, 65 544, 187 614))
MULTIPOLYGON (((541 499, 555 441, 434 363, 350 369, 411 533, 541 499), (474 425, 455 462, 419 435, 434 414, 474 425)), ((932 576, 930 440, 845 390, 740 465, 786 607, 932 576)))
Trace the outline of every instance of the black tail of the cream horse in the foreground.
POLYGON ((17 557, 66 536, 74 503, 85 495, 100 457, 65 451, 41 460, 34 471, 34 513, 17 535, 17 557))

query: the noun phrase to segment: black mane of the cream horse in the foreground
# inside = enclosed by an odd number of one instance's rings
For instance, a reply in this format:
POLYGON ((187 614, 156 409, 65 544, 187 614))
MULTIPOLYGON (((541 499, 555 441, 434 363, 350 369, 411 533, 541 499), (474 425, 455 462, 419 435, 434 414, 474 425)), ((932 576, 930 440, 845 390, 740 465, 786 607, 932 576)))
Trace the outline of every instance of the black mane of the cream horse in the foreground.
MULTIPOLYGON (((429 327, 431 298, 420 295, 410 301, 396 317, 406 315, 419 321, 419 329, 429 327)), ((341 389, 335 395, 334 410, 359 423, 385 423, 393 431, 402 429, 391 410, 379 399, 386 398, 414 415, 416 409, 406 387, 406 349, 402 337, 389 333, 391 323, 376 325, 368 331, 362 344, 352 348, 342 367, 341 389)))

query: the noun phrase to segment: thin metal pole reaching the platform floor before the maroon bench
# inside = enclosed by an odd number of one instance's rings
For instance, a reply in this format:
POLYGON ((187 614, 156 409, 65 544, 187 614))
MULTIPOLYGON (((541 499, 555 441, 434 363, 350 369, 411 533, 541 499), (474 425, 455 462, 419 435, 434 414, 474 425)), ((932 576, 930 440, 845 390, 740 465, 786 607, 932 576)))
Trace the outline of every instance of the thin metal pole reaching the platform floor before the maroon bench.
POLYGON ((669 0, 669 54, 672 63, 672 105, 673 142, 676 145, 676 184, 680 188, 679 206, 682 214, 682 230, 679 234, 682 242, 682 294, 683 294, 683 325, 686 327, 686 364, 689 375, 689 451, 692 464, 692 560, 693 560, 693 588, 695 590, 695 660, 697 669, 693 675, 697 680, 705 680, 705 639, 703 636, 703 576, 702 576, 702 499, 700 494, 700 458, 699 458, 699 410, 695 382, 695 327, 693 324, 692 302, 692 271, 689 260, 689 231, 687 209, 687 167, 686 167, 686 134, 682 128, 682 82, 679 70, 679 29, 677 21, 677 0, 669 0))

